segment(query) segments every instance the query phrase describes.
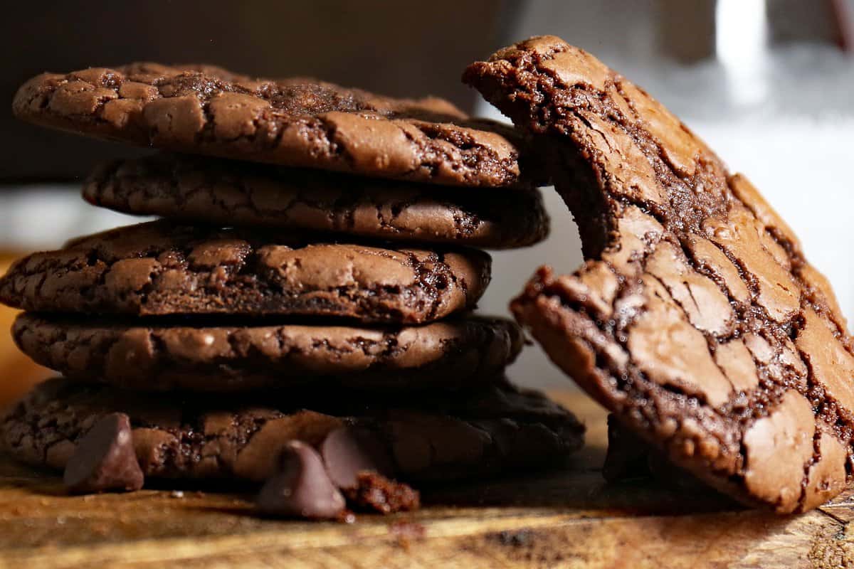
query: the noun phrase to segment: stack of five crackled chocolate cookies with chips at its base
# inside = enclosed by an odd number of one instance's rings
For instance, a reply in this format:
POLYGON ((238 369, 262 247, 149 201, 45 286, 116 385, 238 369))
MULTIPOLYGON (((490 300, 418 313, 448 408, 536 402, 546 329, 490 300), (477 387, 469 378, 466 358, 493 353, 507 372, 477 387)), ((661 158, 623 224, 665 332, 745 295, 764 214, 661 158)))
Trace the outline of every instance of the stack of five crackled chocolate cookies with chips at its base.
POLYGON ((153 64, 44 74, 14 110, 208 155, 102 166, 87 200, 163 219, 0 280, 27 311, 20 348, 64 375, 6 415, 3 442, 73 490, 268 480, 267 510, 325 518, 342 495, 411 508, 392 479, 530 470, 582 443, 504 379, 517 325, 469 313, 490 278, 470 247, 547 234, 511 129, 436 99, 153 64))

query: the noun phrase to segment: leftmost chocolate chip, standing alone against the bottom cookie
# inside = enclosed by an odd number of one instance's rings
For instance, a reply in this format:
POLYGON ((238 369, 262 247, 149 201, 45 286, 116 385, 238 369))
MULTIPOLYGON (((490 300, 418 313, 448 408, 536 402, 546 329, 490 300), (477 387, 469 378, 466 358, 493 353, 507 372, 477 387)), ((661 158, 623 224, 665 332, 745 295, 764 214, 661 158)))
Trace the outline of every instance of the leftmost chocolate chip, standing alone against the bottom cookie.
POLYGON ((68 459, 62 482, 69 492, 135 491, 143 487, 143 471, 133 450, 131 421, 124 413, 98 420, 68 459))

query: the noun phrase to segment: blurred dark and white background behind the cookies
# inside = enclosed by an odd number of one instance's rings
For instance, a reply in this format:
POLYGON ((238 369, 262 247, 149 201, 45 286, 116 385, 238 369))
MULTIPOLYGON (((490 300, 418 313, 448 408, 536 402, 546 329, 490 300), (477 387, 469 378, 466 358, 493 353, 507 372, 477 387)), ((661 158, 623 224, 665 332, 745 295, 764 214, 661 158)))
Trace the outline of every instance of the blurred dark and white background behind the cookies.
MULTIPOLYGON (((644 86, 752 178, 854 316, 854 0, 89 0, 14 3, 4 15, 7 102, 43 71, 150 60, 432 94, 500 118, 459 82, 462 70, 519 39, 559 35, 644 86)), ((19 124, 8 112, 0 132, 0 273, 22 253, 137 221, 86 206, 79 183, 97 161, 142 151, 19 124)), ((494 254, 483 311, 505 314, 538 265, 570 271, 581 262, 570 214, 546 194, 552 237, 494 254)), ((46 376, 11 345, 12 317, 0 308, 0 403, 46 376)), ((511 374, 530 386, 570 385, 536 347, 511 374)))

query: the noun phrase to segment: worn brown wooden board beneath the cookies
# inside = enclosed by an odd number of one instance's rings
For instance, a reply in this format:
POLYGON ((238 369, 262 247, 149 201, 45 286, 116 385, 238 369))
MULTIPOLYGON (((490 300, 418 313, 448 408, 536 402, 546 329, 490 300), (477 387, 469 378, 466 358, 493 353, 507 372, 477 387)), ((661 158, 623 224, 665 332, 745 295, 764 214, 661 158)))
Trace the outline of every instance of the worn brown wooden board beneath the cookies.
POLYGON ((560 472, 424 492, 422 511, 353 525, 263 520, 251 496, 146 490, 65 496, 56 475, 0 460, 0 566, 837 567, 854 563, 854 496, 796 517, 715 493, 606 485, 605 413, 560 472), (448 504, 462 504, 450 506, 448 504))

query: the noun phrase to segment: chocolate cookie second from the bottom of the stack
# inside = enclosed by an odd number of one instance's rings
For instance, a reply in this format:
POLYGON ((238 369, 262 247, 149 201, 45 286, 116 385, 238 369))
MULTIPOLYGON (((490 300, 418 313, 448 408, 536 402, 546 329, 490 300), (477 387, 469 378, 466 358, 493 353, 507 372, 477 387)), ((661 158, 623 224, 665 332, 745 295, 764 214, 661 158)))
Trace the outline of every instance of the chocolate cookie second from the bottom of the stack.
POLYGON ((208 392, 469 388, 495 380, 524 344, 515 322, 478 316, 406 328, 194 327, 25 313, 13 334, 32 359, 75 380, 208 392))

